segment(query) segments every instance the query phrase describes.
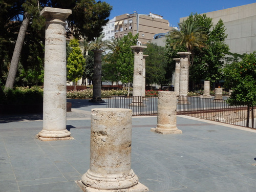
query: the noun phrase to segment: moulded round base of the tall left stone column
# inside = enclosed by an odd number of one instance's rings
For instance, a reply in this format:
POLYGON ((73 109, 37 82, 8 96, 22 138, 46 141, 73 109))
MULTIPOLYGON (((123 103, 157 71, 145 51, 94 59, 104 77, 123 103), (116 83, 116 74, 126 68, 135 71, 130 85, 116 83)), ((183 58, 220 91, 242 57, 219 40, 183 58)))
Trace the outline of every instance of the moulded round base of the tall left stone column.
POLYGON ((71 137, 70 135, 71 133, 68 130, 61 130, 61 131, 42 130, 36 135, 36 137, 41 141, 55 141, 55 140, 73 139, 73 137, 71 137))

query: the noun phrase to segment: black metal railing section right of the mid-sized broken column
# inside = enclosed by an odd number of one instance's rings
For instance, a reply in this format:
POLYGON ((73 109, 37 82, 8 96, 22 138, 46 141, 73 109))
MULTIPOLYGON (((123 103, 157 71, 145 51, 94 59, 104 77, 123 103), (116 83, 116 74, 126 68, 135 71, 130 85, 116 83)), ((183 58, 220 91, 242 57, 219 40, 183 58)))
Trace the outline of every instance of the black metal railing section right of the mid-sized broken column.
POLYGON ((254 106, 249 102, 239 101, 231 105, 227 102, 228 98, 229 96, 223 96, 222 99, 215 99, 214 96, 188 96, 187 102, 179 103, 177 97, 177 114, 256 128, 254 106))

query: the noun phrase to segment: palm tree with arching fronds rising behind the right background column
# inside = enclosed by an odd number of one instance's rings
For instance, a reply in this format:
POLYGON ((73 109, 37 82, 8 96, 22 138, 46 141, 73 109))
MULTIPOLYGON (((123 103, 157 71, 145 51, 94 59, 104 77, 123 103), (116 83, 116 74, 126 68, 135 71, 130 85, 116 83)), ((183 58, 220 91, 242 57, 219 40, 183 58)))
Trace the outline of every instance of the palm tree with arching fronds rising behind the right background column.
POLYGON ((206 32, 203 27, 197 26, 196 22, 190 22, 185 20, 182 23, 179 23, 180 30, 173 29, 169 36, 173 39, 173 46, 176 49, 177 46, 185 46, 187 52, 191 53, 191 62, 193 64, 194 58, 194 48, 199 49, 207 48, 205 41, 208 39, 206 32))

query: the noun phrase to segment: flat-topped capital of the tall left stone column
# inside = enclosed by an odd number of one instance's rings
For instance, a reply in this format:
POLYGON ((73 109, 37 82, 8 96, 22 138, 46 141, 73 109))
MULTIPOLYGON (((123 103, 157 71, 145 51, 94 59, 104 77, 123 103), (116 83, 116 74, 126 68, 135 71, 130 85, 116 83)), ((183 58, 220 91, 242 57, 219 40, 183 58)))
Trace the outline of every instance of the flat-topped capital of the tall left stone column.
POLYGON ((68 18, 71 13, 71 9, 45 7, 41 10, 40 15, 44 16, 47 22, 49 22, 50 20, 60 20, 61 22, 65 22, 66 18, 68 18))

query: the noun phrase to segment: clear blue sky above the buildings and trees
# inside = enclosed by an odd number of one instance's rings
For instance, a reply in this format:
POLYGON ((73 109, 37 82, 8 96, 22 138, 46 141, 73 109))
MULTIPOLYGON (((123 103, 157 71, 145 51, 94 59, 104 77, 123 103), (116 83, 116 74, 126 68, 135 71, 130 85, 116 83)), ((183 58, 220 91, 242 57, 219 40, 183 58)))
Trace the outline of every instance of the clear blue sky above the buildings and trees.
POLYGON ((155 13, 162 15, 169 20, 172 26, 178 26, 180 17, 185 17, 191 13, 207 13, 231 7, 256 3, 255 0, 102 0, 113 6, 110 19, 114 16, 125 13, 138 14, 155 13))

